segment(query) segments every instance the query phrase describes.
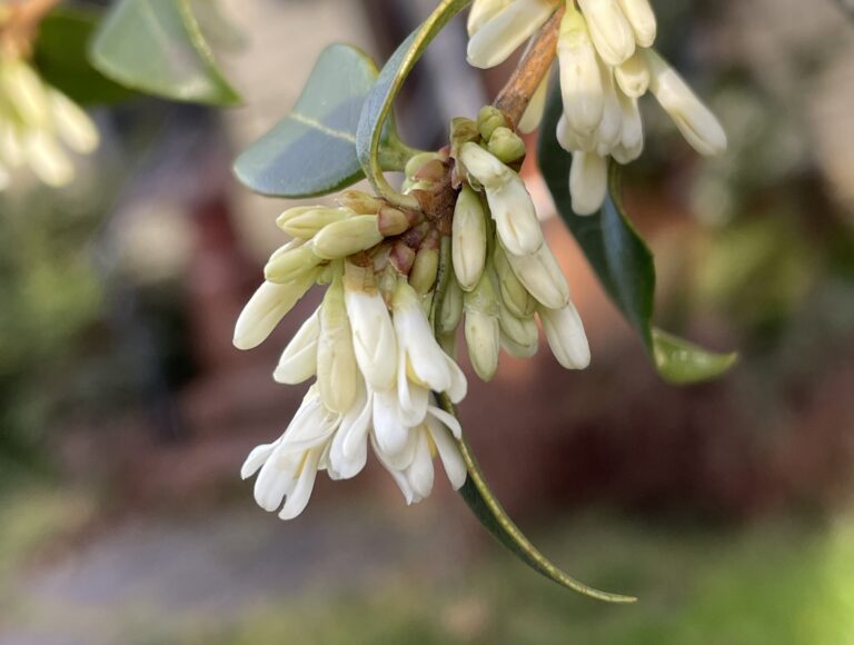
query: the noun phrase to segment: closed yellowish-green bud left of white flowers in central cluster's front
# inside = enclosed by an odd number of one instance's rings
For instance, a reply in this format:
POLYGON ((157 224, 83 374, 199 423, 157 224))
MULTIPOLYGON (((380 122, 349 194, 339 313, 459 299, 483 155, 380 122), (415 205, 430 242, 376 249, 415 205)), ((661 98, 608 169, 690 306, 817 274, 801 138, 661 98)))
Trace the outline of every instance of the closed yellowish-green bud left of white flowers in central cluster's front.
POLYGON ((356 400, 357 376, 352 336, 339 274, 326 290, 320 308, 317 386, 324 405, 332 411, 346 413, 356 400))

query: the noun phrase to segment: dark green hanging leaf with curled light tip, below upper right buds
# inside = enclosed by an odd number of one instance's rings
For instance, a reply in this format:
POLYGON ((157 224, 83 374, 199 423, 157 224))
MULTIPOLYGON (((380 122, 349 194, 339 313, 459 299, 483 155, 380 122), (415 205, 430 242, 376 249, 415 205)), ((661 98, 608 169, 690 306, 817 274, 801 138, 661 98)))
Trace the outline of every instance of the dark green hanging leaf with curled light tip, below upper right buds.
POLYGON ((691 384, 721 376, 735 364, 735 354, 707 351, 652 327, 653 254, 623 209, 616 163, 612 163, 609 195, 602 210, 593 216, 573 212, 569 196, 572 156, 560 148, 555 136, 562 110, 560 93, 556 90, 549 97, 540 128, 539 167, 558 212, 578 240, 599 281, 640 335, 662 378, 674 384, 691 384))

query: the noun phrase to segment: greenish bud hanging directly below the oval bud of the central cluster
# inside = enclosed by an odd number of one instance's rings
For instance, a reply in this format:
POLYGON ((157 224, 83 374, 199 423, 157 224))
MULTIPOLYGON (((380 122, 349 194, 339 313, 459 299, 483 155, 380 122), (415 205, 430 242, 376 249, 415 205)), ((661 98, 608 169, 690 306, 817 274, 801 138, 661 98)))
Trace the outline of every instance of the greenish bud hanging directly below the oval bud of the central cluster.
POLYGON ((502 348, 498 299, 489 271, 484 272, 474 291, 464 296, 464 301, 468 358, 477 376, 488 381, 498 370, 498 354, 502 348))

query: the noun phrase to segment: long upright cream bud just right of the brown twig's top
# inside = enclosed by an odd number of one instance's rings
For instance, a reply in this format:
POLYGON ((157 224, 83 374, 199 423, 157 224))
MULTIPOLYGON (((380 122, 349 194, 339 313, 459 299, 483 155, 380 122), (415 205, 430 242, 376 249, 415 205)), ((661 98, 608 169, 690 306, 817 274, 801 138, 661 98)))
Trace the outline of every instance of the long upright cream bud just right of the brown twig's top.
POLYGON ((557 41, 560 96, 567 125, 576 132, 593 132, 605 110, 602 73, 587 23, 579 11, 567 7, 557 41))

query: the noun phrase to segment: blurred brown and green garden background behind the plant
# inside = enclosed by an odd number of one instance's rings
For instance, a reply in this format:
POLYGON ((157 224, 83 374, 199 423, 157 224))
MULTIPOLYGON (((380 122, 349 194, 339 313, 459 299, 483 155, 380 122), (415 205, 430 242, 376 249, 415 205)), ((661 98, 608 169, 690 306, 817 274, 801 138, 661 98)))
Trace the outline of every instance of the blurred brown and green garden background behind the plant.
MULTIPOLYGON (((627 206, 658 322, 737 349, 725 378, 658 379, 525 169, 594 364, 503 357, 464 427, 534 542, 638 604, 539 578, 444 478, 407 508, 374 463, 320 478, 296 520, 256 507, 239 468, 302 396, 270 374, 317 294, 231 347, 288 206, 231 159, 327 43, 384 60, 434 4, 224 1, 246 107, 97 111, 78 181, 0 195, 0 644, 854 643, 854 23, 831 0, 654 2, 731 148, 698 159, 646 99, 627 206)), ((465 44, 458 19, 407 85, 411 145, 441 146, 512 68, 480 75, 465 44)))

